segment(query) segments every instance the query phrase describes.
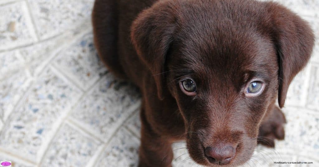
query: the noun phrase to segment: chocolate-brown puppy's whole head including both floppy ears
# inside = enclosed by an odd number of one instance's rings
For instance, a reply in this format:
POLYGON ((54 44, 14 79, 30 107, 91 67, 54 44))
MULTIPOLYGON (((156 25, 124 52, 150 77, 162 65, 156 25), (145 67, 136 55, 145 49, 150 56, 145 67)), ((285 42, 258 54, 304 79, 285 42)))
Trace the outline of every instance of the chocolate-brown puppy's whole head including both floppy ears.
POLYGON ((200 164, 245 163, 259 125, 314 45, 308 24, 276 3, 160 1, 131 27, 160 99, 175 98, 190 156, 200 164))

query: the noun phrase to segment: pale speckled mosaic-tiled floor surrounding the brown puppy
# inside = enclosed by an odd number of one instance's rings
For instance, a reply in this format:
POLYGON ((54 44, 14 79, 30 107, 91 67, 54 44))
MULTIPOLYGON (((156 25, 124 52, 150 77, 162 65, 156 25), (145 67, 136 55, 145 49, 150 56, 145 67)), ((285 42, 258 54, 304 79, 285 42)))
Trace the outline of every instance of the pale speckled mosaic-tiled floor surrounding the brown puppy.
MULTIPOLYGON (((279 1, 308 20, 318 39, 318 0, 279 1)), ((21 167, 136 165, 140 95, 98 60, 92 5, 0 1, 0 161, 21 167)), ((276 149, 256 148, 246 165, 279 166, 273 161, 282 160, 319 166, 318 108, 319 40, 288 93, 286 140, 276 149)), ((185 149, 174 153, 174 166, 197 166, 185 149)))

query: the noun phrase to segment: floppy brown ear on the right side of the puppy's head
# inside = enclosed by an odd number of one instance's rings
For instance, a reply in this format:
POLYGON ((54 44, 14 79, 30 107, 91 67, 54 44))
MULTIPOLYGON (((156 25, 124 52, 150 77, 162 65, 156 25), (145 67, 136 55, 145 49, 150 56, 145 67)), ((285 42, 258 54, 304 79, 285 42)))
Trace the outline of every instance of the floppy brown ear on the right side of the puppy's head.
POLYGON ((279 61, 278 103, 282 108, 291 81, 310 59, 315 38, 308 23, 292 11, 276 3, 270 3, 269 9, 279 61))

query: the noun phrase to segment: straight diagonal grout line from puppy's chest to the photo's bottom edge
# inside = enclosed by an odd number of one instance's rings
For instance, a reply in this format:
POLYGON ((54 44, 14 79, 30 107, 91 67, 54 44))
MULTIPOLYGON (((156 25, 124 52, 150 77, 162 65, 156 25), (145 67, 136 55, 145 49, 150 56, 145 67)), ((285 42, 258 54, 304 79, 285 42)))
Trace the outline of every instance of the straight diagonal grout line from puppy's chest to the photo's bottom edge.
MULTIPOLYGON (((135 105, 132 105, 132 106, 136 107, 135 110, 137 110, 137 109, 140 107, 140 105, 141 105, 141 102, 137 102, 135 105)), ((105 144, 104 144, 104 146, 102 147, 102 149, 99 150, 100 152, 96 152, 97 155, 96 155, 96 156, 94 155, 94 156, 89 160, 90 163, 88 163, 88 164, 86 165, 86 167, 93 167, 93 166, 94 166, 93 162, 96 162, 96 161, 98 160, 98 158, 103 154, 103 151, 108 147, 109 143, 110 143, 111 140, 114 138, 114 136, 118 133, 118 131, 119 131, 121 128, 125 128, 125 124, 128 122, 128 120, 129 120, 132 116, 134 116, 135 113, 136 113, 136 112, 130 113, 130 115, 122 122, 122 124, 115 129, 115 131, 114 131, 114 132, 112 133, 112 135, 109 137, 108 141, 105 142, 105 144), (93 159, 93 158, 96 158, 96 159, 93 159)), ((137 138, 137 139, 139 139, 139 138, 137 138)))

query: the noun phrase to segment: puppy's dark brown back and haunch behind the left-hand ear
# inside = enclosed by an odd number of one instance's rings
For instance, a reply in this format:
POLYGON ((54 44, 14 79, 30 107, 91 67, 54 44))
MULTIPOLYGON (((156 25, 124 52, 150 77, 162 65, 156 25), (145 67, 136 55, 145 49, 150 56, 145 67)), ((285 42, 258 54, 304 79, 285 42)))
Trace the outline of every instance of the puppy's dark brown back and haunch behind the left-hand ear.
POLYGON ((117 77, 138 85, 145 66, 130 40, 137 15, 158 0, 95 0, 92 12, 94 44, 103 63, 117 77))

